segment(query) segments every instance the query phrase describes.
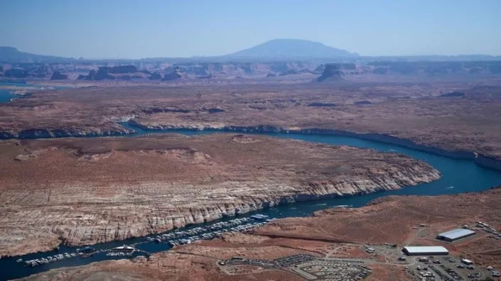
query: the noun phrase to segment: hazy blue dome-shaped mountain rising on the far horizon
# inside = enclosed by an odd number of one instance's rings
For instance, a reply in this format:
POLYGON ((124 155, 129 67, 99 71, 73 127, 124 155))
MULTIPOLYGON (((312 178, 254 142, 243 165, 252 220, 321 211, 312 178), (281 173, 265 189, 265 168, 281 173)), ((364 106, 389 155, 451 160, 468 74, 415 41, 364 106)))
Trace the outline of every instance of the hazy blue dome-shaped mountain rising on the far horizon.
POLYGON ((322 43, 299 39, 274 39, 225 57, 249 57, 270 59, 322 59, 358 57, 357 53, 332 48, 322 43))

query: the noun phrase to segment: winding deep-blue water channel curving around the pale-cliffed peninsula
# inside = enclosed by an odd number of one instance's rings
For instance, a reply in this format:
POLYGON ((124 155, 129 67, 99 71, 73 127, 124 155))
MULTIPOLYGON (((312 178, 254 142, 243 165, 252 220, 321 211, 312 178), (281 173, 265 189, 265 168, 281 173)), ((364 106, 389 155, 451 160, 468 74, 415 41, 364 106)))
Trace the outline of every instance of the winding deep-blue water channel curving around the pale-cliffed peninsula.
MULTIPOLYGON (((195 134, 205 134, 205 133, 218 133, 217 131, 186 131, 186 130, 170 130, 161 132, 148 132, 141 131, 138 128, 134 128, 139 131, 134 136, 144 135, 146 133, 184 133, 187 135, 195 134)), ((344 197, 344 198, 333 198, 333 199, 321 199, 312 202, 297 202, 293 204, 284 204, 280 206, 274 206, 269 209, 264 209, 260 211, 254 211, 248 214, 242 214, 242 216, 250 216, 252 214, 261 213, 270 216, 271 218, 283 218, 286 216, 308 216, 313 211, 318 211, 321 209, 330 208, 338 205, 352 205, 355 207, 363 206, 373 199, 378 197, 388 196, 388 195, 438 195, 438 194, 458 194, 462 192, 478 192, 490 187, 495 187, 501 184, 501 172, 496 170, 490 170, 486 167, 481 167, 476 165, 472 160, 458 160, 453 158, 447 158, 441 155, 435 155, 432 153, 426 153, 419 150, 414 150, 411 148, 404 148, 398 145, 391 145, 387 143, 380 143, 372 140, 363 140, 360 138, 345 137, 345 136, 325 136, 325 135, 306 135, 306 134, 288 134, 288 133, 260 133, 262 135, 271 136, 275 138, 292 138, 296 140, 305 140, 316 143, 327 143, 330 145, 351 145, 359 148, 372 148, 385 153, 403 153, 416 158, 419 160, 424 160, 433 165, 437 170, 441 172, 441 179, 436 180, 427 184, 419 184, 414 187, 404 187, 399 190, 389 191, 389 192, 377 192, 373 194, 361 195, 356 197, 344 197)), ((217 221, 227 221, 231 218, 220 219, 217 221)), ((217 221, 212 221, 202 225, 210 225, 217 221)), ((197 225, 200 226, 200 225, 197 225)), ((195 226, 188 226, 187 228, 193 228, 195 226)), ((132 238, 126 241, 114 241, 110 243, 101 243, 95 246, 97 249, 109 249, 117 246, 122 246, 123 244, 138 243, 145 241, 145 238, 132 238)), ((142 250, 147 250, 150 253, 155 253, 158 251, 168 250, 170 248, 165 243, 144 243, 138 248, 142 250)), ((43 258, 47 255, 55 255, 57 253, 74 253, 75 248, 61 246, 59 250, 53 250, 48 253, 35 253, 24 255, 21 258, 23 260, 31 260, 34 258, 43 258)), ((40 265, 35 268, 30 268, 22 265, 22 263, 16 263, 16 258, 4 258, 0 260, 0 280, 5 280, 9 278, 24 277, 37 272, 43 272, 49 270, 50 268, 60 268, 65 266, 75 266, 75 265, 85 265, 99 260, 109 260, 114 259, 114 257, 109 257, 104 254, 93 255, 89 258, 68 258, 65 260, 60 260, 55 263, 49 263, 45 265, 40 265)))

